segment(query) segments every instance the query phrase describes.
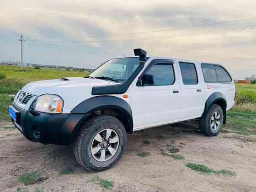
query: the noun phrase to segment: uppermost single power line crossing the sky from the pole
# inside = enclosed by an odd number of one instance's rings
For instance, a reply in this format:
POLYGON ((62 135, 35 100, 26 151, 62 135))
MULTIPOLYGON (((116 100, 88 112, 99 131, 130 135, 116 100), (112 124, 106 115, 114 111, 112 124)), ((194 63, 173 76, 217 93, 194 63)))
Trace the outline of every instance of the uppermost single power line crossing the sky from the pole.
POLYGON ((211 26, 211 25, 218 25, 218 24, 231 23, 231 22, 239 22, 239 21, 250 21, 250 20, 255 20, 255 19, 256 18, 231 20, 231 21, 223 21, 223 22, 216 22, 216 23, 208 23, 208 24, 197 25, 197 26, 180 27, 180 28, 174 28, 174 29, 164 29, 164 30, 147 31, 147 32, 133 32, 133 33, 120 33, 120 34, 102 34, 102 35, 91 35, 91 36, 36 36, 36 35, 30 35, 30 36, 27 36, 27 37, 79 38, 79 37, 109 37, 109 36, 135 35, 135 34, 141 34, 141 33, 175 31, 175 30, 180 30, 180 29, 197 28, 197 27, 204 27, 204 26, 211 26))

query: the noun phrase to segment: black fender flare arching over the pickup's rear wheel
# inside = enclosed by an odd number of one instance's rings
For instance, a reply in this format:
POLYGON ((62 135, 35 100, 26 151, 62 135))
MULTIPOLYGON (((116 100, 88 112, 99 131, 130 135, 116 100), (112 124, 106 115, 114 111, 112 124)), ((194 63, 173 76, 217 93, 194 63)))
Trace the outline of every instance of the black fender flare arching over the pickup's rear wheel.
POLYGON ((223 93, 221 92, 215 92, 212 95, 210 95, 208 97, 208 99, 205 102, 205 106, 204 106, 204 111, 203 111, 203 115, 208 111, 208 109, 212 106, 213 103, 218 103, 219 101, 221 101, 222 103, 224 103, 223 106, 220 106, 223 110, 223 114, 224 114, 224 119, 223 119, 223 123, 226 124, 226 117, 227 117, 227 99, 224 96, 223 93))

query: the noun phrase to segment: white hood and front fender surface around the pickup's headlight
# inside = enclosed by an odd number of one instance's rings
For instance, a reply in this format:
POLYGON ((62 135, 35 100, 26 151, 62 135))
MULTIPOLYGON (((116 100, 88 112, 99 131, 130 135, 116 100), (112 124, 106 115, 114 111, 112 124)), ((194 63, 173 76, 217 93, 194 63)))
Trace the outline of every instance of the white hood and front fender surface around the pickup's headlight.
POLYGON ((25 85, 21 91, 34 96, 54 94, 64 101, 63 113, 70 112, 80 102, 90 98, 94 86, 117 85, 116 82, 83 77, 67 77, 58 80, 43 80, 25 85))

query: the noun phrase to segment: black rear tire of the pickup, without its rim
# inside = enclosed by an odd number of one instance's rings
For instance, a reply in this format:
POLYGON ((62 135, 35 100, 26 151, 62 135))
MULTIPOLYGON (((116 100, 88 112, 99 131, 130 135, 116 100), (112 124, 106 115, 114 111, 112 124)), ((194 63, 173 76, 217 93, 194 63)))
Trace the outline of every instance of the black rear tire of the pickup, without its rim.
POLYGON ((224 114, 222 111, 222 108, 219 105, 213 104, 208 111, 203 114, 203 116, 199 120, 199 128, 201 130, 201 133, 207 136, 216 136, 221 130, 222 124, 223 124, 224 114), (219 112, 220 114, 220 125, 217 130, 213 130, 210 126, 211 117, 213 116, 214 112, 219 112))

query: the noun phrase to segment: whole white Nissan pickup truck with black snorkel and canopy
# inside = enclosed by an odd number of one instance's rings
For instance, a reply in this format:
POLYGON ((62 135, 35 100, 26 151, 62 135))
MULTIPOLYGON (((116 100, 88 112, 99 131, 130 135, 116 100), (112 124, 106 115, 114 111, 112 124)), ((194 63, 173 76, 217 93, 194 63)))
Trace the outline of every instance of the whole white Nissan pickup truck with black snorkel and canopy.
POLYGON ((217 135, 235 102, 235 84, 220 64, 135 56, 110 59, 85 78, 25 85, 9 107, 24 136, 43 144, 74 144, 76 160, 106 170, 124 153, 127 133, 198 119, 217 135))

